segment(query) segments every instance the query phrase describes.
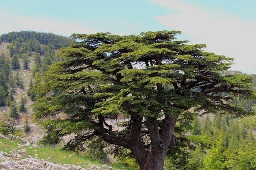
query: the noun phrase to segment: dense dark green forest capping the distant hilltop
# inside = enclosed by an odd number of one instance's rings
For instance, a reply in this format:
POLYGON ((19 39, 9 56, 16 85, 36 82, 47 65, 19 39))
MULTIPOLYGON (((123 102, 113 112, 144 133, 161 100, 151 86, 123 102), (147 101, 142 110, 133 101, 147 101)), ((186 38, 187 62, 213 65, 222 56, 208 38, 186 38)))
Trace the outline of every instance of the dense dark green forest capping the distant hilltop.
POLYGON ((55 49, 66 47, 72 44, 74 41, 64 36, 58 36, 53 33, 35 32, 35 31, 20 31, 9 32, 8 34, 2 34, 0 36, 0 42, 12 42, 20 39, 21 42, 28 42, 29 40, 37 40, 40 44, 48 45, 54 44, 55 49))

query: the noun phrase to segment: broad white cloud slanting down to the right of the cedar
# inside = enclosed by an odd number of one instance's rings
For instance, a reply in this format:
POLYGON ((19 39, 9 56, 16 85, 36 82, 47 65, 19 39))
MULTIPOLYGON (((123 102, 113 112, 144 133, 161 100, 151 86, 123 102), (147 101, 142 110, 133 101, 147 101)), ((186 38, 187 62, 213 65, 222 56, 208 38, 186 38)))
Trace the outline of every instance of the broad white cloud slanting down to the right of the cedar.
POLYGON ((155 17, 158 22, 193 37, 192 43, 206 44, 207 51, 235 58, 232 70, 256 74, 256 21, 246 22, 225 11, 200 9, 181 0, 150 1, 172 10, 155 17))

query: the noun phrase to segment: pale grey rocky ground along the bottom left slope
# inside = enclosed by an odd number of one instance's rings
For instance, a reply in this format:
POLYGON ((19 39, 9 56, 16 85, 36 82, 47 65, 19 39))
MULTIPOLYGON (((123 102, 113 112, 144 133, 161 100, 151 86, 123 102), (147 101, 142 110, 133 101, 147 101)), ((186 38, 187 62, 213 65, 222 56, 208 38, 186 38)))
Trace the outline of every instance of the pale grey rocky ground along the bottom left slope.
MULTIPOLYGON (((0 134, 1 139, 9 139, 9 140, 19 140, 20 144, 18 144, 18 147, 13 148, 9 153, 6 153, 4 151, 0 150, 0 169, 1 170, 14 170, 14 169, 20 169, 20 170, 85 170, 85 168, 82 168, 77 165, 71 165, 71 164, 55 164, 52 162, 47 162, 44 159, 38 159, 37 154, 31 156, 28 155, 27 157, 24 157, 26 155, 26 147, 30 148, 37 148, 37 147, 43 147, 43 146, 37 146, 35 144, 31 145, 27 140, 24 138, 16 137, 12 134, 9 134, 8 137, 4 137, 2 134, 0 134)), ((0 142, 0 145, 2 142, 0 142)), ((71 156, 71 155, 70 155, 71 156)), ((85 167, 88 167, 88 170, 112 170, 112 167, 107 165, 102 165, 101 167, 97 165, 92 165, 90 162, 80 162, 80 164, 86 164, 85 167)))

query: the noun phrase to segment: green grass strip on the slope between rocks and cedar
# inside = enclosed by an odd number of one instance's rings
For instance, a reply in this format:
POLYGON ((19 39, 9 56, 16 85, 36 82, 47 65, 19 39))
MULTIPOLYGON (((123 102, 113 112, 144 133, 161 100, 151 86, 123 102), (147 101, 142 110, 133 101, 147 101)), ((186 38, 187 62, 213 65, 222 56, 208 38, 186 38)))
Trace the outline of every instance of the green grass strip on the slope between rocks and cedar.
MULTIPOLYGON (((78 165, 82 168, 88 168, 89 164, 97 165, 101 167, 104 163, 99 160, 92 160, 85 156, 78 155, 75 152, 63 151, 60 148, 55 147, 31 147, 27 146, 24 148, 18 148, 19 140, 11 141, 9 139, 0 139, 0 150, 9 153, 12 149, 26 149, 27 153, 23 155, 24 158, 31 155, 32 157, 37 157, 38 159, 44 159, 47 162, 53 162, 58 164, 68 164, 68 165, 78 165), (37 156, 35 156, 37 154, 37 156)), ((129 168, 121 164, 113 163, 111 165, 113 169, 123 169, 123 170, 136 170, 134 168, 129 168)))

